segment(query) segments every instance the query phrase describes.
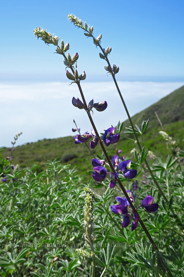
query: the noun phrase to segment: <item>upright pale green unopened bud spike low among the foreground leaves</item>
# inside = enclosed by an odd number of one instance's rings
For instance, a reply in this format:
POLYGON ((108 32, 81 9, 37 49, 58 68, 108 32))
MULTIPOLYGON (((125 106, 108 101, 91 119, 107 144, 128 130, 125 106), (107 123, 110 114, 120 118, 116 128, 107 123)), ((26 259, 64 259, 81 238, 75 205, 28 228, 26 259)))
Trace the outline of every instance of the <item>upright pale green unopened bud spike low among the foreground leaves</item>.
POLYGON ((94 205, 94 195, 93 193, 87 192, 85 198, 84 206, 84 223, 83 231, 85 241, 90 247, 93 247, 95 237, 93 235, 93 205, 94 205))

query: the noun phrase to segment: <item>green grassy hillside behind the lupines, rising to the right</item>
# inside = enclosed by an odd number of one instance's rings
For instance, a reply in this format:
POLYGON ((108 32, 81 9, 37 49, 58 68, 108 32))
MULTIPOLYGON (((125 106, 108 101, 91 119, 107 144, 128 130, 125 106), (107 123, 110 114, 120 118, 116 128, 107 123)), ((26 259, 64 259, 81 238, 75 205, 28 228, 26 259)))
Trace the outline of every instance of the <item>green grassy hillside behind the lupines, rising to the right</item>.
MULTIPOLYGON (((159 115, 160 120, 164 125, 164 130, 177 141, 178 146, 182 147, 183 127, 184 127, 184 86, 175 90, 171 94, 162 98, 157 103, 148 107, 144 111, 134 115, 132 120, 134 123, 141 124, 143 120, 150 119, 148 130, 144 135, 144 146, 154 152, 155 155, 163 153, 163 157, 168 155, 165 148, 165 142, 159 130, 162 130, 155 117, 155 111, 159 115)), ((129 125, 125 121, 125 126, 129 125)), ((135 147, 134 143, 128 139, 123 138, 127 136, 123 134, 125 128, 121 133, 121 138, 118 142, 118 150, 122 149, 122 155, 130 156, 130 150, 135 147)), ((88 143, 89 144, 89 143, 88 143)), ((110 145, 107 150, 109 155, 115 155, 113 145, 110 145)), ((94 155, 102 155, 99 145, 93 150, 94 155)), ((4 156, 9 155, 6 149, 3 151, 4 156)), ((38 170, 43 168, 47 160, 58 159, 63 164, 70 163, 72 166, 77 166, 81 174, 86 174, 87 170, 92 169, 91 154, 84 144, 74 144, 73 137, 65 137, 58 139, 43 139, 36 143, 27 143, 22 146, 15 147, 13 163, 19 164, 20 167, 31 166, 36 163, 39 164, 38 170)), ((170 153, 171 154, 171 153, 170 153)))

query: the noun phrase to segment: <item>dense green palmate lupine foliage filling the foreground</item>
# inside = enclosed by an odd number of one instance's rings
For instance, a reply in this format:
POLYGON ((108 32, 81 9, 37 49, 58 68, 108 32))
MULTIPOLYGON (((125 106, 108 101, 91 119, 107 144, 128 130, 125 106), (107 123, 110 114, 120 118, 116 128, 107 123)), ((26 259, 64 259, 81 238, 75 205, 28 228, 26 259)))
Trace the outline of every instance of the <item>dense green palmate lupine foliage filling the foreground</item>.
MULTIPOLYGON (((139 183, 141 189, 135 192, 135 203, 141 205, 148 191, 158 199, 156 213, 147 214, 143 207, 139 213, 155 243, 165 253, 173 274, 182 276, 184 244, 178 219, 183 216, 184 175, 178 163, 169 167, 167 161, 164 172, 157 167, 155 165, 163 189, 164 175, 169 175, 175 215, 168 214, 169 207, 165 206, 158 191, 145 183, 139 183)), ((2 172, 6 168, 7 160, 1 159, 2 172)), ((123 195, 109 188, 108 179, 102 182, 105 192, 97 195, 91 190, 95 187, 92 179, 86 182, 75 169, 56 160, 48 162, 46 170, 39 174, 36 165, 24 172, 9 170, 9 173, 6 171, 8 180, 1 182, 0 194, 0 272, 3 276, 88 276, 91 249, 89 246, 83 248, 85 240, 81 226, 86 194, 94 199, 96 276, 102 271, 104 276, 138 277, 149 276, 151 272, 162 276, 159 254, 153 251, 140 225, 133 232, 128 227, 122 228, 121 216, 112 213, 110 206, 116 204, 115 196, 123 195), (12 176, 17 179, 13 181, 12 176)), ((147 178, 153 185, 149 175, 147 178)), ((132 189, 132 181, 126 182, 126 187, 132 189)))

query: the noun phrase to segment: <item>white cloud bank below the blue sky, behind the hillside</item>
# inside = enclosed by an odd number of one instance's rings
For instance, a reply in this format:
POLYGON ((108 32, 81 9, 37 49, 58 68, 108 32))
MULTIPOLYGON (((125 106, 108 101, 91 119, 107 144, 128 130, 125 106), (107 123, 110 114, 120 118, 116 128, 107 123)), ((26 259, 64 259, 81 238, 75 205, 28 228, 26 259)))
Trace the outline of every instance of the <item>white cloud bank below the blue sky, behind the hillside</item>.
MULTIPOLYGON (((181 82, 118 82, 130 115, 144 110, 183 85, 181 82)), ((93 119, 99 132, 127 119, 121 99, 113 82, 81 81, 88 103, 107 101, 104 112, 94 110, 93 119)), ((75 84, 66 82, 14 82, 0 83, 1 130, 0 147, 11 146, 13 136, 22 131, 16 145, 43 138, 73 135, 73 119, 81 132, 90 131, 91 126, 84 110, 71 104, 72 97, 80 97, 75 84)), ((82 100, 82 99, 81 99, 82 100)), ((145 118, 147 119, 147 118, 145 118)))

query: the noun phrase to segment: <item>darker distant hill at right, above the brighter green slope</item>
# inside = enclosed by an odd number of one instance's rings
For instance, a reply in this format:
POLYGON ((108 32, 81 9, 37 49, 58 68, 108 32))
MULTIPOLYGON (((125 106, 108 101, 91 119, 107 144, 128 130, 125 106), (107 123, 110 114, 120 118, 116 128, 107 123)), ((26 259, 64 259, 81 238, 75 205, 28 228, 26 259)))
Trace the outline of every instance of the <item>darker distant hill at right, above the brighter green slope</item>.
MULTIPOLYGON (((149 106, 145 110, 132 116, 134 124, 141 124, 143 120, 149 118, 149 126, 159 125, 159 122, 155 116, 155 111, 159 116, 162 124, 168 124, 171 122, 184 119, 184 86, 178 90, 174 90, 169 95, 165 96, 155 104, 149 106)), ((124 126, 129 126, 129 120, 124 122, 124 126)))

